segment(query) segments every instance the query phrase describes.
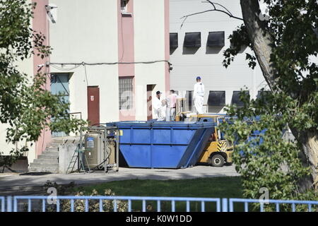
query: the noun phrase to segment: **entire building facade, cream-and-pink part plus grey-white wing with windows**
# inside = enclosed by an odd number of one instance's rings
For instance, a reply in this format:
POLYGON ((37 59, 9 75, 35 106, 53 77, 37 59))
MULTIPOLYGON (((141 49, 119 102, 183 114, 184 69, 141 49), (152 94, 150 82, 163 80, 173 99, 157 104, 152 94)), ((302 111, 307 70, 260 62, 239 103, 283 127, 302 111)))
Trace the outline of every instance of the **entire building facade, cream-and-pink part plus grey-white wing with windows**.
MULTIPOLYGON (((31 2, 31 0, 29 0, 31 2)), ((36 55, 19 63, 32 77, 37 71, 49 73, 47 90, 64 93, 73 117, 90 124, 152 118, 152 97, 172 88, 187 97, 196 76, 206 88, 207 112, 222 113, 236 101, 245 86, 251 97, 266 87, 259 66, 253 71, 242 49, 228 69, 222 65, 227 37, 242 21, 224 13, 209 12, 183 16, 211 8, 199 0, 32 0, 37 3, 33 30, 42 32, 52 54, 36 55), (170 68, 170 63, 172 64, 170 68), (170 71, 172 69, 172 71, 170 71)), ((241 17, 240 1, 218 0, 241 17)), ((54 136, 43 130, 30 146, 28 160, 42 153, 54 136)), ((0 148, 7 155, 6 125, 0 126, 0 148)))

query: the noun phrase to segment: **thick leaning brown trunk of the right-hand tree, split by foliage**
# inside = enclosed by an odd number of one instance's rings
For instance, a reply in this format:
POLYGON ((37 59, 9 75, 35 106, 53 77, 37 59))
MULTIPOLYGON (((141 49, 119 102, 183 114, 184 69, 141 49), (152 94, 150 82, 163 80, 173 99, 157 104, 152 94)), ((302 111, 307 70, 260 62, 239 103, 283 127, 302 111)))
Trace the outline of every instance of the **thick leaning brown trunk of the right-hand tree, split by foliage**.
MULTIPOLYGON (((258 0, 240 0, 245 26, 252 43, 257 61, 263 76, 273 92, 279 92, 276 86, 275 69, 271 64, 273 40, 266 30, 266 22, 261 21, 258 0)), ((293 135, 302 144, 302 164, 312 170, 310 177, 305 177, 300 182, 300 191, 318 189, 318 132, 298 131, 292 129, 293 135)))

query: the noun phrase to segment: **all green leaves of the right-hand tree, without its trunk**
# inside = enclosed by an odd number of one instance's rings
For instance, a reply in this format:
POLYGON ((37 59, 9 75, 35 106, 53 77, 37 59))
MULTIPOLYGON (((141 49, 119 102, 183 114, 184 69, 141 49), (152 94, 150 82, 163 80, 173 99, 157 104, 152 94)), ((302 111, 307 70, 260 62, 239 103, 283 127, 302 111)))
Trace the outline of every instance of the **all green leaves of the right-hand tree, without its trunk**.
MULTIPOLYGON (((228 107, 228 114, 237 119, 223 124, 222 129, 236 143, 233 159, 242 175, 245 197, 259 198, 259 189, 266 187, 270 198, 317 199, 314 191, 300 192, 301 179, 311 172, 302 165, 300 154, 302 136, 308 131, 318 135, 318 66, 310 61, 318 51, 314 32, 318 26, 318 4, 316 0, 264 2, 269 7, 269 21, 264 22, 263 32, 273 40, 273 90, 257 100, 249 100, 242 93, 245 105, 228 107), (295 141, 283 138, 283 131, 289 128, 293 133, 297 131, 295 141), (264 129, 264 134, 252 136, 254 131, 264 129)), ((247 34, 245 25, 233 32, 229 37, 231 47, 224 52, 225 67, 242 45, 253 50, 249 37, 253 34, 247 34)), ((255 57, 247 54, 247 60, 254 68, 255 57)))

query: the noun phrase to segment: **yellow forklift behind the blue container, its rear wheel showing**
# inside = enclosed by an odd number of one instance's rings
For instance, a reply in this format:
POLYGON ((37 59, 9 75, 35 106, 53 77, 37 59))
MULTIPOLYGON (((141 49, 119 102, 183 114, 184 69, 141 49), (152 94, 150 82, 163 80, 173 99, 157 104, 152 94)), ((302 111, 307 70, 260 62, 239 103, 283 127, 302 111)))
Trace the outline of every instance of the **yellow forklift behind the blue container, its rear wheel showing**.
MULTIPOLYGON (((178 104, 179 106, 183 106, 182 104, 180 105, 180 103, 178 104)), ((232 164, 233 145, 225 139, 223 133, 218 129, 220 121, 225 121, 225 115, 212 113, 193 114, 189 111, 182 112, 182 107, 180 107, 180 111, 176 114, 175 121, 216 122, 217 126, 214 129, 214 133, 211 134, 198 163, 208 163, 213 167, 223 167, 225 164, 232 164)))

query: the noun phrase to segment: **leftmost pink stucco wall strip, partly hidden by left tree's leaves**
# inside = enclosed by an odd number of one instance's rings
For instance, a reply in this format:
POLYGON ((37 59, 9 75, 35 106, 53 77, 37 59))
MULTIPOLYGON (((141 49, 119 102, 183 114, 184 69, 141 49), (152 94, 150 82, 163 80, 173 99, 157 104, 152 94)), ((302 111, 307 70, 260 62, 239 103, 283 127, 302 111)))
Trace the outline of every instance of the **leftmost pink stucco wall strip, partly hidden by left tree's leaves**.
MULTIPOLYGON (((45 44, 49 45, 49 21, 47 20, 47 12, 45 9, 45 5, 49 4, 48 0, 33 0, 33 3, 37 3, 37 6, 34 10, 34 18, 33 18, 33 30, 35 32, 42 32, 43 35, 45 35, 46 42, 45 44)), ((46 61, 49 61, 49 58, 41 59, 40 56, 37 56, 37 52, 35 51, 35 54, 33 56, 33 72, 34 74, 42 72, 45 73, 47 70, 47 73, 49 73, 49 69, 45 66, 42 67, 39 71, 38 65, 45 64, 46 61)), ((49 90, 50 88, 50 81, 49 78, 47 78, 47 83, 45 88, 49 90)), ((42 153, 43 150, 45 150, 47 144, 51 141, 51 131, 49 129, 43 129, 41 131, 41 136, 35 143, 35 152, 36 157, 42 153)))

